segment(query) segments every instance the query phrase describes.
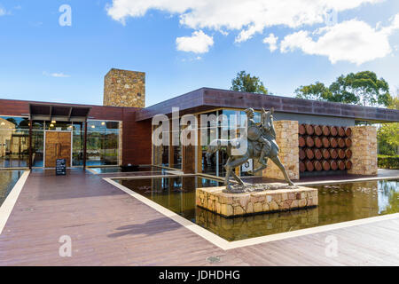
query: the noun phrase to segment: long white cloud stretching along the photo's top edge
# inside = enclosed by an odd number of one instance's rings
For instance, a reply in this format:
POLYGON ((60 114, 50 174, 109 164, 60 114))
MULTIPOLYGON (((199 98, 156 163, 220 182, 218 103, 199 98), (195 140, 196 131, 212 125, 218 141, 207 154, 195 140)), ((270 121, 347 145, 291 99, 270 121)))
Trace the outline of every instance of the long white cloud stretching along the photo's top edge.
POLYGON ((113 20, 125 24, 129 17, 143 17, 149 10, 178 15, 187 28, 237 30, 236 42, 244 42, 264 28, 323 23, 325 15, 383 0, 113 0, 106 7, 113 20))

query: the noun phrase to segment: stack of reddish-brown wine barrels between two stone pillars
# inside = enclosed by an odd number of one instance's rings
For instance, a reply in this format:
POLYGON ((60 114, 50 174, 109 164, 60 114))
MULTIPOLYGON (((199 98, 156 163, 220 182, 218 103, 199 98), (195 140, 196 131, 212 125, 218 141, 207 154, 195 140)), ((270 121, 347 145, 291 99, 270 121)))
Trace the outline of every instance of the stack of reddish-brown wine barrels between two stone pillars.
POLYGON ((350 170, 350 127, 300 124, 300 171, 350 170))

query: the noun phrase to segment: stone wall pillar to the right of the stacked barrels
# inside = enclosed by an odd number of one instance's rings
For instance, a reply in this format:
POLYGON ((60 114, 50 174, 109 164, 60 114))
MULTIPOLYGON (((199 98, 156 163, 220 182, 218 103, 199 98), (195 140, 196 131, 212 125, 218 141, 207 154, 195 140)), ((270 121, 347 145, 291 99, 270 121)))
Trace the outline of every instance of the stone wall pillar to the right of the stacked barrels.
POLYGON ((374 126, 352 127, 352 169, 353 175, 377 175, 377 129, 374 126))

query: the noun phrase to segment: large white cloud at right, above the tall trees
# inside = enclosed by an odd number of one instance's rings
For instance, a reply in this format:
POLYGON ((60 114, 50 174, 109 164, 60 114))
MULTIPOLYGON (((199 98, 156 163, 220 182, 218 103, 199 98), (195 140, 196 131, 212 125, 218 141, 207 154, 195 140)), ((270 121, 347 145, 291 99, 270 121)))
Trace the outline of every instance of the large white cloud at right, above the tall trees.
POLYGON ((348 20, 332 27, 320 28, 314 40, 308 31, 301 30, 286 36, 280 51, 300 49, 304 53, 327 56, 332 64, 349 61, 360 65, 386 57, 391 53, 389 36, 399 28, 399 14, 386 28, 372 28, 361 20, 348 20))

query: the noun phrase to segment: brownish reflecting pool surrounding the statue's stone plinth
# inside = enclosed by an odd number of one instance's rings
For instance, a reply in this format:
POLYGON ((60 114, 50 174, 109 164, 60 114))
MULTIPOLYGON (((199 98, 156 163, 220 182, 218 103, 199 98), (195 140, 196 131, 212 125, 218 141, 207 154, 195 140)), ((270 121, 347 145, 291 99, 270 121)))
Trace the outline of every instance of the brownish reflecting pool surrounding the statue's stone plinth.
POLYGON ((219 181, 203 177, 117 181, 227 241, 399 212, 399 180, 312 186, 318 189, 317 208, 236 218, 224 218, 195 206, 195 188, 221 186, 219 181))

